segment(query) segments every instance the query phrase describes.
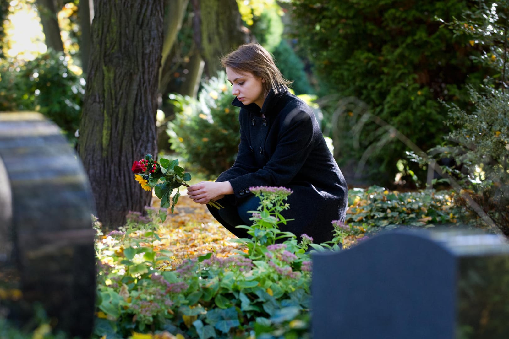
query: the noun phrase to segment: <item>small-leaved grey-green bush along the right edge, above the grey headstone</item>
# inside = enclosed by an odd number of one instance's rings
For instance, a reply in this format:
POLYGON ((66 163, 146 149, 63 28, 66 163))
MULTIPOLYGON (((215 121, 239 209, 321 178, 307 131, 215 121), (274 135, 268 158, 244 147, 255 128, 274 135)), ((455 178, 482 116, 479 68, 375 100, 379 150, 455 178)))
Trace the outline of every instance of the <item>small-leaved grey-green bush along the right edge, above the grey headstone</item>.
MULTIPOLYGON (((507 120, 507 30, 509 3, 481 1, 464 20, 446 23, 459 36, 469 40, 482 53, 477 63, 492 69, 483 85, 470 87, 472 112, 454 102, 444 102, 448 109, 446 123, 455 129, 445 141, 430 150, 430 158, 450 159, 454 166, 442 167, 448 180, 464 190, 456 203, 477 214, 479 221, 498 227, 509 235, 509 130, 507 120)), ((414 155, 415 156, 415 155, 414 155)), ((421 159, 428 162, 428 159, 421 159)))

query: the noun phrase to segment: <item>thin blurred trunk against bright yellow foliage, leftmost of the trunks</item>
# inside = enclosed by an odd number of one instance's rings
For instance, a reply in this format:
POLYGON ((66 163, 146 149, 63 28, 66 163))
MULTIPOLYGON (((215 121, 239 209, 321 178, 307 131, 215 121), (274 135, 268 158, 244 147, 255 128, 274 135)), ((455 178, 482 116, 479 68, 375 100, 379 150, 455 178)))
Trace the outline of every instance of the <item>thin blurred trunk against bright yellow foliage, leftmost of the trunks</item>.
POLYGON ((63 52, 64 44, 60 36, 60 26, 56 16, 54 0, 37 0, 37 9, 41 17, 46 46, 57 52, 63 52))

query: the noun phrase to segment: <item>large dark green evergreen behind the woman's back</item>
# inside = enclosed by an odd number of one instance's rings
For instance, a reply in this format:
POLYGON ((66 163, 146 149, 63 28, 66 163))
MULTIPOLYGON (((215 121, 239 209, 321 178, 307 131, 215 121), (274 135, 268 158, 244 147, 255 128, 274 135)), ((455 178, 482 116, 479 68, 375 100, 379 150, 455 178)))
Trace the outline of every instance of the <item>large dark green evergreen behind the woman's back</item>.
MULTIPOLYGON (((484 76, 468 57, 474 49, 468 39, 454 36, 435 19, 460 16, 470 2, 297 0, 292 5, 295 37, 327 89, 320 95, 356 98, 421 149, 430 149, 450 131, 442 124, 446 110, 437 99, 465 108, 465 85, 484 76)), ((331 105, 324 112, 328 120, 336 109, 331 105)), ((352 112, 342 111, 347 119, 352 112)), ((406 158, 405 144, 387 130, 377 131, 373 122, 363 122, 363 129, 355 131, 360 134, 358 147, 351 124, 332 128, 340 137, 341 144, 334 145, 342 149, 336 159, 340 167, 351 159, 360 161, 373 145, 364 174, 371 174, 370 182, 392 183, 398 160, 406 158), (380 173, 386 174, 383 182, 380 173)))

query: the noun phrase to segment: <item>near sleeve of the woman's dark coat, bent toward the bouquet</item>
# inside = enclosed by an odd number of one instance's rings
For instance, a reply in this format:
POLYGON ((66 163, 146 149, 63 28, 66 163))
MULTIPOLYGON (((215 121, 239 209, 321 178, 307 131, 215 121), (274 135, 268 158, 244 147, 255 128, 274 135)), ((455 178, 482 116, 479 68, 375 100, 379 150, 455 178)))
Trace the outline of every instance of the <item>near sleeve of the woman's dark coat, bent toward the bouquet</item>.
POLYGON ((312 151, 314 134, 319 130, 310 114, 313 113, 295 108, 281 117, 277 145, 267 164, 228 179, 236 198, 244 198, 249 187, 285 186, 296 176, 312 151))

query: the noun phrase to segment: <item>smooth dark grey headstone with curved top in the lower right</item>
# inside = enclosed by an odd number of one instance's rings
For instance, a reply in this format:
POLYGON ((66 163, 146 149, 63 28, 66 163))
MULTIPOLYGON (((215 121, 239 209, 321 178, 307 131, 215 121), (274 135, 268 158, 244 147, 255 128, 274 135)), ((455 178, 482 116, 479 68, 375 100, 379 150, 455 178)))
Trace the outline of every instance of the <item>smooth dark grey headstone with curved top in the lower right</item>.
POLYGON ((402 230, 313 254, 315 339, 509 338, 507 319, 501 236, 402 230))

